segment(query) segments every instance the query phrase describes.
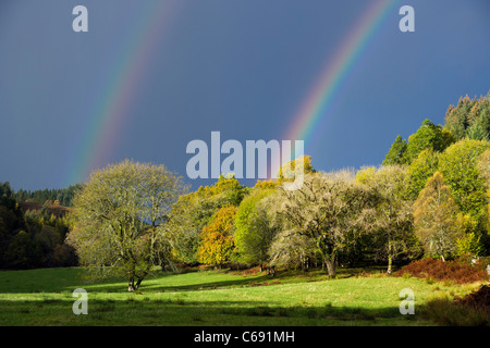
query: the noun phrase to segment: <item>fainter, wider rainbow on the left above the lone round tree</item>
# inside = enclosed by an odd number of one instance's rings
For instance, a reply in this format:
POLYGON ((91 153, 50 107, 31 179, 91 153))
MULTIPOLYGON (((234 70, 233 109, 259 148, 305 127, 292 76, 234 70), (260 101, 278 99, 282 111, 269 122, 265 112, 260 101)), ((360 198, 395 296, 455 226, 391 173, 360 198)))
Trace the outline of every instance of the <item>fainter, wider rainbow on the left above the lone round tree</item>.
POLYGON ((88 111, 88 124, 72 158, 66 184, 81 183, 91 170, 107 164, 118 138, 127 136, 127 119, 134 116, 127 114, 127 109, 147 74, 155 47, 168 35, 167 26, 177 1, 148 3, 124 42, 123 55, 114 61, 99 101, 88 111))

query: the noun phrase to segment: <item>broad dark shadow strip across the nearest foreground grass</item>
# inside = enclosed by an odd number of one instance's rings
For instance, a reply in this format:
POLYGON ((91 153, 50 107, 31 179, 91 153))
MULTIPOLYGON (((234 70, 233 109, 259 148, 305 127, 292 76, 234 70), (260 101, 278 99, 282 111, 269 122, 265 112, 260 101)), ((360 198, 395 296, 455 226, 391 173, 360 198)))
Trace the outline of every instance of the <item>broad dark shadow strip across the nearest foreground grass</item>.
POLYGON ((397 308, 283 307, 267 301, 90 300, 87 315, 73 314, 72 304, 68 299, 0 301, 0 325, 390 325, 416 319, 403 318, 397 308))

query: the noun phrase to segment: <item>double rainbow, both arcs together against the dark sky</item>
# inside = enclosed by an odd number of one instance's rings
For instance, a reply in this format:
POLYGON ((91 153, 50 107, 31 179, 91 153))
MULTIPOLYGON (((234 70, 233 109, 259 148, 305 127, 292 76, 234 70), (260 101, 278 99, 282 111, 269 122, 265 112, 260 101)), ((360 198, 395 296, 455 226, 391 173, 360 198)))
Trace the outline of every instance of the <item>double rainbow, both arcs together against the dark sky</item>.
MULTIPOLYGON (((329 119, 329 108, 350 71, 396 2, 372 1, 334 57, 328 60, 283 139, 305 140, 306 146, 315 133, 321 130, 321 122, 329 119)), ((142 78, 147 74, 155 47, 168 35, 166 26, 177 3, 174 0, 149 1, 135 22, 125 54, 115 62, 99 101, 88 115, 88 125, 69 166, 66 184, 85 181, 91 170, 105 165, 105 161, 113 153, 118 137, 125 134, 124 125, 130 117, 127 110, 137 95, 142 78)))

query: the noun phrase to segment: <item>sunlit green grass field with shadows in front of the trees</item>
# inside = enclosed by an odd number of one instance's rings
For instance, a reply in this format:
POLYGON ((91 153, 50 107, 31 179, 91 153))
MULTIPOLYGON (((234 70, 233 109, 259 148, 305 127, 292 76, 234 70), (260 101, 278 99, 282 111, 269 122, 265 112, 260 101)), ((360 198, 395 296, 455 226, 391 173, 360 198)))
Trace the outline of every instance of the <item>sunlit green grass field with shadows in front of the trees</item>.
POLYGON ((434 298, 478 287, 412 277, 321 271, 242 275, 226 271, 158 273, 127 293, 126 282, 84 281, 82 269, 0 272, 0 325, 433 325, 422 315, 434 298), (72 293, 88 293, 88 314, 75 315, 72 293), (415 294, 402 315, 399 294, 415 294))

